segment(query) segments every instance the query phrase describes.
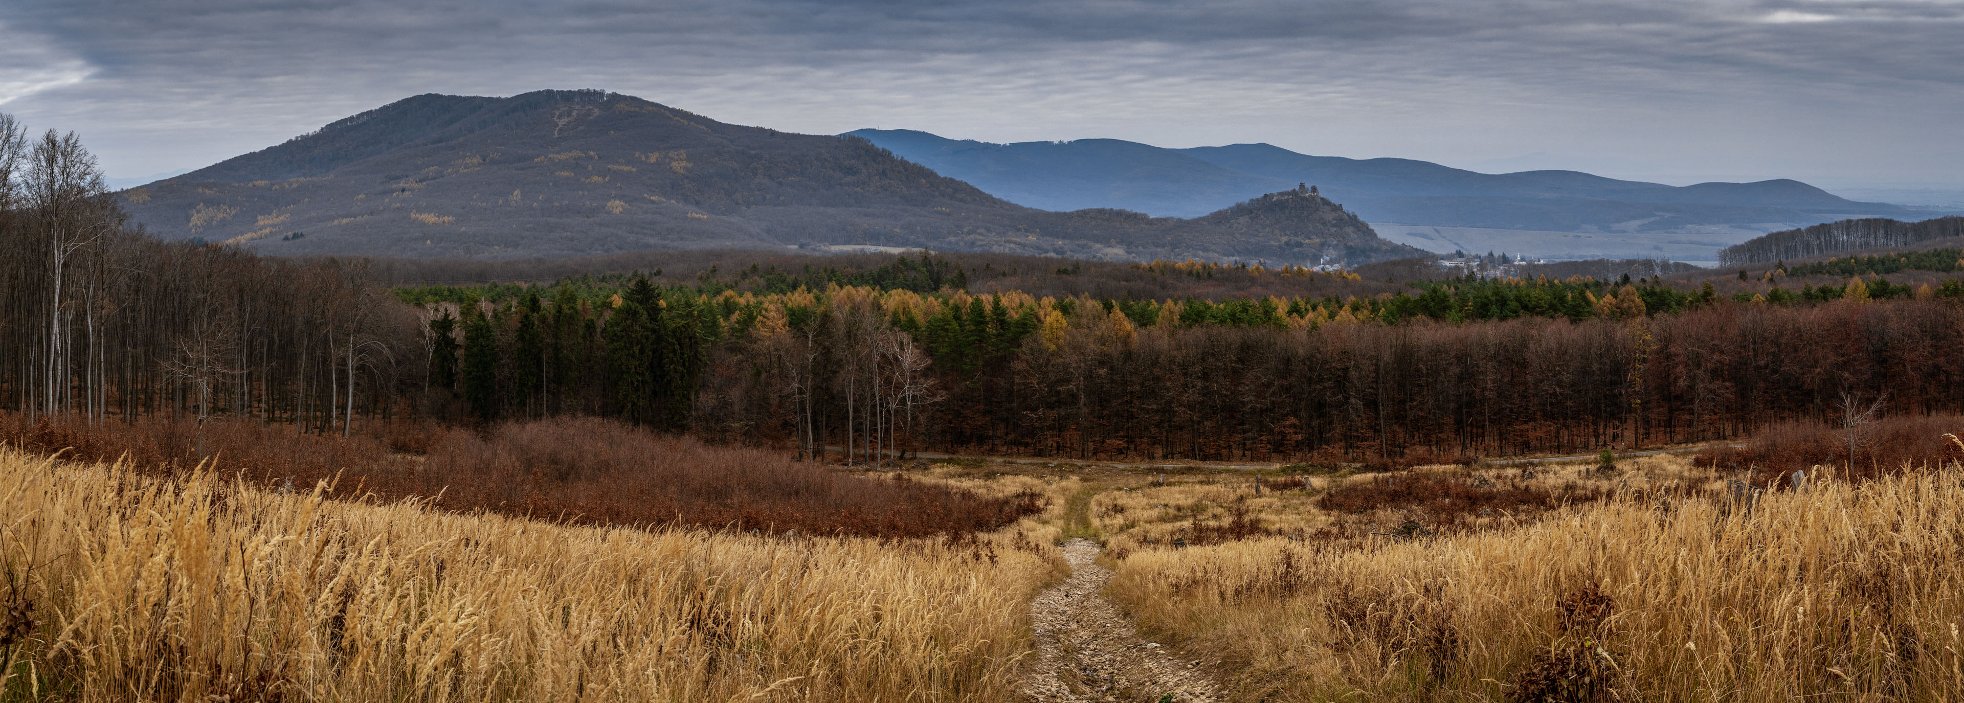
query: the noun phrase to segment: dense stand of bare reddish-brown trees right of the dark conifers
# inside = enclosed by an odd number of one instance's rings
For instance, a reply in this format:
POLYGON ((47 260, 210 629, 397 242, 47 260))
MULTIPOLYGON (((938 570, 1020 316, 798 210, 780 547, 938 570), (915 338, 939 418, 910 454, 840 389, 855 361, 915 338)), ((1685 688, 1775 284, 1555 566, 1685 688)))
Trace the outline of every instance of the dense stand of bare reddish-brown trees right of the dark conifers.
POLYGON ((1149 328, 1072 318, 955 385, 937 442, 1047 456, 1269 460, 1585 452, 1821 418, 1842 391, 1964 408, 1950 302, 1720 304, 1624 322, 1149 328))

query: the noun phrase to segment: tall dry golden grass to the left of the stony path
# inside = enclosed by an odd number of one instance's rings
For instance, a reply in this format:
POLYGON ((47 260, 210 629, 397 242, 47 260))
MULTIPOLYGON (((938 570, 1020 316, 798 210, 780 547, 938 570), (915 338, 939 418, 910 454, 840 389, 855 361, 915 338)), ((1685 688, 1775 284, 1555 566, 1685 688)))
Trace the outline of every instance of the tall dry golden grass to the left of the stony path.
POLYGON ((0 699, 1000 701, 1043 528, 575 528, 0 450, 0 699))

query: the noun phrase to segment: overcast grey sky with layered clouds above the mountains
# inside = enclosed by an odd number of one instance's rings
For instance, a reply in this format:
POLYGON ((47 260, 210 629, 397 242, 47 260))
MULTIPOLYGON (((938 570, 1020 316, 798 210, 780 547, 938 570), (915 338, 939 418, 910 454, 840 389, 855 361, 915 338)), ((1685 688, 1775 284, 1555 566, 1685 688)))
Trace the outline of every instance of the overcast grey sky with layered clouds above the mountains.
POLYGON ((0 112, 116 177, 536 88, 807 134, 1964 189, 1964 0, 0 2, 0 112))

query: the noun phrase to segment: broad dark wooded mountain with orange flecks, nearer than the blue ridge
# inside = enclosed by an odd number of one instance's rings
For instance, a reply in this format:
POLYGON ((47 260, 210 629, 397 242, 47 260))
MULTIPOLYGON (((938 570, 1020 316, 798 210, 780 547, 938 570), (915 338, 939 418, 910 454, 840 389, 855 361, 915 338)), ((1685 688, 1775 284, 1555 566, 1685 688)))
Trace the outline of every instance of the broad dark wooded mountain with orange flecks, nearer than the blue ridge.
MULTIPOLYGON (((1049 212, 860 137, 733 126, 601 90, 538 90, 405 98, 122 200, 151 234, 279 255, 892 245, 1363 263, 1418 253, 1292 187, 1194 220, 1049 212)), ((1257 192, 1265 189, 1224 204, 1257 192)))

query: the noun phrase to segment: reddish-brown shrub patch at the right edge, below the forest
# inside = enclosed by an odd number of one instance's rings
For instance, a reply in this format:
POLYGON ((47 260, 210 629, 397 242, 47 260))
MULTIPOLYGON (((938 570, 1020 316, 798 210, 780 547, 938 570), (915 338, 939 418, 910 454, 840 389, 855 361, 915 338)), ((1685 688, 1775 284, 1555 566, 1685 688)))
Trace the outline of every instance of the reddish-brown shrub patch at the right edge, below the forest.
POLYGON ((1874 479, 1903 465, 1944 465, 1964 460, 1964 446, 1944 434, 1964 438, 1964 416, 1893 416, 1856 428, 1854 467, 1848 461, 1848 430, 1823 422, 1783 422, 1756 434, 1744 446, 1713 446, 1693 463, 1720 471, 1750 471, 1760 487, 1787 489, 1793 471, 1832 465, 1848 479, 1874 479))

